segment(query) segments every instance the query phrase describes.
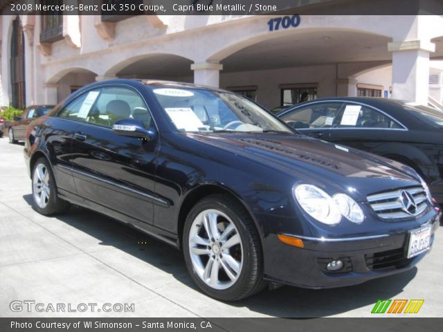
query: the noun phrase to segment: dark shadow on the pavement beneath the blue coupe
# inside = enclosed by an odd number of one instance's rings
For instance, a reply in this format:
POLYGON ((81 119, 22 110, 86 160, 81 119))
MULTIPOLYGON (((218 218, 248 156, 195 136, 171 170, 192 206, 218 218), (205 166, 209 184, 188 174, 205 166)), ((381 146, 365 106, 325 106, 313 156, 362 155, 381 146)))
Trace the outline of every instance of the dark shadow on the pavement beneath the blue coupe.
MULTIPOLYGON (((23 198, 33 207, 31 194, 24 195, 23 198)), ((197 289, 188 275, 181 252, 143 232, 102 214, 76 206, 73 206, 66 214, 50 218, 63 221, 91 237, 100 239, 100 245, 123 250, 173 275, 186 286, 197 289), (138 243, 141 241, 147 243, 138 243)), ((251 311, 275 317, 324 317, 346 313, 362 306, 370 306, 369 313, 372 304, 375 304, 378 299, 397 297, 416 274, 417 268, 412 268, 399 275, 374 279, 357 286, 323 290, 283 286, 275 291, 265 290, 248 299, 226 303, 226 305, 246 306, 251 311)))

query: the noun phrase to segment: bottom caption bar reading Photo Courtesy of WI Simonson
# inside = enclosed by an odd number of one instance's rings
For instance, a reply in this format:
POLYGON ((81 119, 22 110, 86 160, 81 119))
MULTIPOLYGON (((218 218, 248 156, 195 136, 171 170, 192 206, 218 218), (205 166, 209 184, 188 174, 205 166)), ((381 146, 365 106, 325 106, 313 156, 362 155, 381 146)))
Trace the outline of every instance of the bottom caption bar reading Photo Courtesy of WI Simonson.
POLYGON ((0 318, 2 332, 436 332, 443 318, 0 318))

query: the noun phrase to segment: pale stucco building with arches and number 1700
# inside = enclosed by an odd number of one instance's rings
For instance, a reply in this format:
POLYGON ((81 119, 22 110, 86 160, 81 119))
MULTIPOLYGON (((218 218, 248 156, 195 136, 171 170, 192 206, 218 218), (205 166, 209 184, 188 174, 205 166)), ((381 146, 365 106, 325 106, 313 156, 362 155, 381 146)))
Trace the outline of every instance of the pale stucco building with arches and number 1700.
POLYGON ((41 16, 1 9, 1 106, 55 104, 114 77, 220 86, 269 108, 298 102, 303 91, 310 98, 443 99, 439 15, 300 14, 289 15, 296 24, 271 30, 270 19, 286 15, 41 16))

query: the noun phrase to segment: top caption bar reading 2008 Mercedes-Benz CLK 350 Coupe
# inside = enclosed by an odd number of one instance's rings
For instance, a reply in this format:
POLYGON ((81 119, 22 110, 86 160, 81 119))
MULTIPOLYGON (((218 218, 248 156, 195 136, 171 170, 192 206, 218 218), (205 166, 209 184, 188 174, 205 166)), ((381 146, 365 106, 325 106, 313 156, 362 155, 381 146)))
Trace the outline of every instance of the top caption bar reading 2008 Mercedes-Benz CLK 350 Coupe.
POLYGON ((0 0, 1 15, 443 15, 441 0, 0 0))

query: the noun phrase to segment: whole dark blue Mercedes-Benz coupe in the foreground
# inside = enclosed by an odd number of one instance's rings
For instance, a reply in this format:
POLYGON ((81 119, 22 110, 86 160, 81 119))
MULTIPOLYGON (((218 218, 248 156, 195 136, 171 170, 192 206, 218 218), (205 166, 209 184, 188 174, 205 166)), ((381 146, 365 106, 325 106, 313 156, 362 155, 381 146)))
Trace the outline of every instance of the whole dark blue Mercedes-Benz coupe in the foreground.
POLYGON ((410 167, 193 84, 85 86, 30 124, 24 153, 38 212, 73 203, 133 225, 183 250, 195 283, 223 300, 408 270, 441 216, 410 167))

